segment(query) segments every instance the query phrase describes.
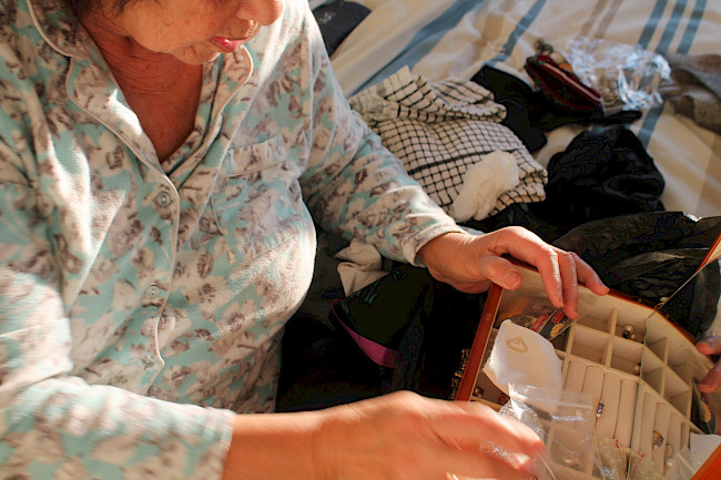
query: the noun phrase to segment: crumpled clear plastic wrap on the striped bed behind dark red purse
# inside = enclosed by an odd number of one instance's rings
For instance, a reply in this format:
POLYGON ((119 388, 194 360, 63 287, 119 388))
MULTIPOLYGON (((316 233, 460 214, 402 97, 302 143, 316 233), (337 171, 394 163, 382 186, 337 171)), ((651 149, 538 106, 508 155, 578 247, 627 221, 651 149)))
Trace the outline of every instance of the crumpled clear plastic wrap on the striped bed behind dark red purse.
POLYGON ((585 37, 557 49, 576 75, 601 94, 605 114, 663 103, 659 88, 670 82, 671 68, 662 55, 639 45, 585 37))

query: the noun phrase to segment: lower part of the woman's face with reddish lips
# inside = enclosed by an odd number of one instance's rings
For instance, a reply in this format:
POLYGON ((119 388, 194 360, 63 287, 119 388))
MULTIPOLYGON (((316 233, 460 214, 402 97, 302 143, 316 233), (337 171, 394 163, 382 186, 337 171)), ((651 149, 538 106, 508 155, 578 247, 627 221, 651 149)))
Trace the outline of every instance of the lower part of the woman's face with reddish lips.
POLYGON ((283 0, 133 0, 120 13, 103 13, 112 33, 201 64, 232 52, 282 11, 283 0))

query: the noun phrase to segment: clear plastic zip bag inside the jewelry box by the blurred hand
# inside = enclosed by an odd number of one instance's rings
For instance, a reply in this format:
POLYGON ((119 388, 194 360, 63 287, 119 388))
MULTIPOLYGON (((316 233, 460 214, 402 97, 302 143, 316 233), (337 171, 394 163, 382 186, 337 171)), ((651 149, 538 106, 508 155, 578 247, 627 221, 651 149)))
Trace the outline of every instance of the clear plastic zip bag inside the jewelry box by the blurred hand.
POLYGON ((589 394, 509 385, 500 413, 534 430, 546 445, 538 480, 603 478, 595 433, 596 407, 589 394))

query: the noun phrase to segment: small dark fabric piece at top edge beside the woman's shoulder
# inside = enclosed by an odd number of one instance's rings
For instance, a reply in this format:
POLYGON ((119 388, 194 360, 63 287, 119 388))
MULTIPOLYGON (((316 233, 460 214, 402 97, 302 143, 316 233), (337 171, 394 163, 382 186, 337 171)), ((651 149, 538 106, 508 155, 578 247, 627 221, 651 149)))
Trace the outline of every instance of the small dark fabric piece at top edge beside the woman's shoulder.
POLYGON ((365 19, 370 9, 353 1, 335 0, 313 10, 313 17, 321 28, 323 43, 328 57, 341 42, 365 19))

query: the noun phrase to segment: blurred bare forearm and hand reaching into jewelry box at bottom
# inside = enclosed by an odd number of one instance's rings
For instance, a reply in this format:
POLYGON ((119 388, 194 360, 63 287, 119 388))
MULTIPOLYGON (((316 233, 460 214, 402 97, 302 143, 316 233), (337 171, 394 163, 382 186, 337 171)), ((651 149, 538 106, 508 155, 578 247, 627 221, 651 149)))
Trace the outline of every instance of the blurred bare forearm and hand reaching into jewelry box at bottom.
POLYGON ((544 445, 476 402, 410 392, 316 412, 238 416, 224 480, 532 478, 544 445))

